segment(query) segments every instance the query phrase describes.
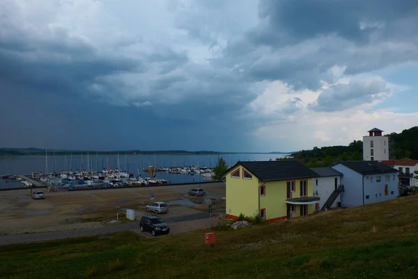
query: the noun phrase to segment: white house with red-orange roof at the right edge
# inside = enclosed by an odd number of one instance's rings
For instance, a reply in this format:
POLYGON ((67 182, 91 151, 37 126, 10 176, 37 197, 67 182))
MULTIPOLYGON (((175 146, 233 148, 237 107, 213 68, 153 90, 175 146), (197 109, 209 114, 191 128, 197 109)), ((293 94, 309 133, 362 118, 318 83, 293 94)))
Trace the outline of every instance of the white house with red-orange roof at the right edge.
POLYGON ((382 163, 398 169, 399 183, 402 186, 418 187, 418 160, 385 160, 382 163))

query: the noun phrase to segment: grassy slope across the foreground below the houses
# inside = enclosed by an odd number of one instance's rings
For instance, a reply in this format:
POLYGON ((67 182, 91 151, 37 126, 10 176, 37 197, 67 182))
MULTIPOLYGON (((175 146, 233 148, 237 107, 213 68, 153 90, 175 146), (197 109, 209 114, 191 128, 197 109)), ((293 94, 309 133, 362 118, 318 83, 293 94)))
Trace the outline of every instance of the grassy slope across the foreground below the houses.
POLYGON ((0 246, 1 278, 417 278, 418 196, 155 239, 125 232, 0 246), (373 226, 376 232, 373 232, 373 226), (119 264, 116 259, 119 259, 119 264))

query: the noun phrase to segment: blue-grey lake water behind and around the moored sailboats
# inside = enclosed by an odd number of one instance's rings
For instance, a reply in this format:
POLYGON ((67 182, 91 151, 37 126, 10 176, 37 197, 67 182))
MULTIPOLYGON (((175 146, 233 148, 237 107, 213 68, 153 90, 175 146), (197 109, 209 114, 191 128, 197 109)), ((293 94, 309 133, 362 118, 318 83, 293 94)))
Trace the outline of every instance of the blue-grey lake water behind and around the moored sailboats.
MULTIPOLYGON (((274 160, 286 156, 286 154, 266 154, 266 153, 235 153, 219 155, 226 160, 229 166, 234 165, 238 160, 274 160)), ((148 176, 142 172, 150 165, 160 167, 176 167, 176 166, 200 166, 200 167, 215 167, 217 163, 217 155, 119 155, 119 166, 138 175, 138 169, 141 176, 148 176)), ((98 155, 89 156, 88 163, 94 171, 100 171, 103 168, 112 169, 118 167, 117 155, 98 155)), ((61 172, 63 170, 75 171, 77 169, 88 169, 87 156, 49 156, 47 164, 45 156, 0 156, 0 175, 3 174, 31 174, 31 172, 40 171, 45 172, 45 165, 47 165, 48 173, 61 172)), ((187 183, 187 182, 201 182, 208 181, 203 179, 199 174, 168 174, 166 172, 157 172, 157 178, 166 179, 169 183, 187 183)), ((10 186, 20 187, 20 183, 6 183, 5 180, 0 179, 0 188, 10 188, 10 186)))

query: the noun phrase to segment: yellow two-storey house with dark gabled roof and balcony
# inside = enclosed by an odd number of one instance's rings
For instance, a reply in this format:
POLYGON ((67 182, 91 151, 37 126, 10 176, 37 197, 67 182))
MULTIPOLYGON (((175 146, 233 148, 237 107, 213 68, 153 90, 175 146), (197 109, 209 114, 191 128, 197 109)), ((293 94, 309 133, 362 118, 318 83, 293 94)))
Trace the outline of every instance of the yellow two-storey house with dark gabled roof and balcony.
POLYGON ((311 215, 319 201, 314 177, 318 174, 297 160, 239 162, 223 174, 226 217, 260 214, 274 222, 311 215))

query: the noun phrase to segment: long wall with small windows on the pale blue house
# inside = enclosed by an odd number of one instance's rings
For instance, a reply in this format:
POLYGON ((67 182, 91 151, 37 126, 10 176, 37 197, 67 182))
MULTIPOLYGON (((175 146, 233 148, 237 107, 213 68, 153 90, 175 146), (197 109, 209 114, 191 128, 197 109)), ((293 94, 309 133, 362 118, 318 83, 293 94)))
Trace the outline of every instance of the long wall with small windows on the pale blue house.
POLYGON ((383 202, 388 199, 394 199, 397 195, 399 195, 398 174, 373 174, 364 176, 364 204, 383 202), (380 176, 380 181, 378 181, 378 176, 380 176), (387 186, 387 193, 385 193, 385 186, 387 186))

